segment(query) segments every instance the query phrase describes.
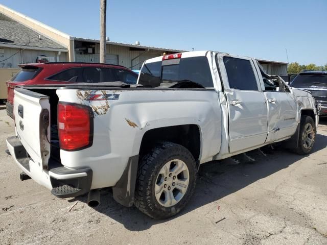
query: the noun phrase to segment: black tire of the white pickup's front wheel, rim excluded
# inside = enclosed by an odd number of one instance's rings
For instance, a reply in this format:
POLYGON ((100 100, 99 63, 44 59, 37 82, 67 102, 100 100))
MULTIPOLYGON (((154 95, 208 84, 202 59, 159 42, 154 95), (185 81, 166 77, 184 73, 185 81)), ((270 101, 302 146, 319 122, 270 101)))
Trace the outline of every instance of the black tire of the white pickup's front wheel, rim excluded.
POLYGON ((297 147, 294 149, 294 152, 299 155, 307 155, 307 154, 311 153, 314 143, 315 143, 316 133, 317 133, 317 129, 316 129, 315 121, 313 120, 313 118, 311 116, 302 115, 301 122, 300 122, 300 128, 299 128, 298 144, 297 144, 297 147), (305 135, 306 126, 308 124, 311 124, 314 134, 313 134, 313 139, 312 139, 311 145, 309 147, 305 147, 305 145, 304 145, 305 140, 303 139, 303 135, 305 135))

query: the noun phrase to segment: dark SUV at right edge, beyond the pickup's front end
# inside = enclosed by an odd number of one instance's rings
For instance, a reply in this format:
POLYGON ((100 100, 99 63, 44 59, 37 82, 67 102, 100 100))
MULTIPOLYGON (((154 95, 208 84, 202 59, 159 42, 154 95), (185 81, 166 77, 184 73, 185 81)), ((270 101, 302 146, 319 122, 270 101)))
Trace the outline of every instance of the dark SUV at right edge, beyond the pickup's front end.
POLYGON ((327 71, 302 71, 290 86, 310 91, 321 104, 320 116, 327 116, 327 71))

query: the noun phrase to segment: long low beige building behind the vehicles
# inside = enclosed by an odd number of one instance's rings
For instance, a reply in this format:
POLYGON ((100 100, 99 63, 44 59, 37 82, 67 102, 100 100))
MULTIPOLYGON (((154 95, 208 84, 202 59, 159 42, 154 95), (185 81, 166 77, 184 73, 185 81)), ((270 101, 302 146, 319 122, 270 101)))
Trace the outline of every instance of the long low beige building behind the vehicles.
MULTIPOLYGON (((139 69, 162 54, 185 52, 107 41, 106 63, 139 69)), ((100 41, 73 37, 0 4, 0 68, 39 61, 99 62, 100 41)), ((270 74, 287 73, 287 63, 259 60, 270 74)))

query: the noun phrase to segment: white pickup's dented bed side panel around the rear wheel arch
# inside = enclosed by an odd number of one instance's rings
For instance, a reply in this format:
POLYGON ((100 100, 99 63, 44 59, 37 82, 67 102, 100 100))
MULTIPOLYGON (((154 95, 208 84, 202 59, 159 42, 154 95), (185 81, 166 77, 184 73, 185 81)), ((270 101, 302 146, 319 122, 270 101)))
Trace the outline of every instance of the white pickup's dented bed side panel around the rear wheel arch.
POLYGON ((92 146, 60 153, 63 165, 93 170, 91 189, 114 186, 128 158, 138 155, 142 138, 151 129, 197 125, 201 139, 199 160, 212 157, 220 150, 221 110, 214 90, 62 89, 57 94, 59 101, 88 105, 94 110, 92 146), (86 100, 99 94, 97 99, 104 95, 113 99, 86 100))

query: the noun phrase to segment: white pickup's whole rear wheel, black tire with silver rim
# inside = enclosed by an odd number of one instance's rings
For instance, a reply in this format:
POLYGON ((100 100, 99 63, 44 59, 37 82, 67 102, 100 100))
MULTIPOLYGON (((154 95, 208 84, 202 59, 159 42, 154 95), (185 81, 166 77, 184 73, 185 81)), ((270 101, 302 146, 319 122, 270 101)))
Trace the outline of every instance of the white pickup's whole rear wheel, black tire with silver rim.
POLYGON ((152 218, 168 218, 182 210, 196 182, 193 155, 182 145, 162 142, 141 160, 134 205, 152 218))

